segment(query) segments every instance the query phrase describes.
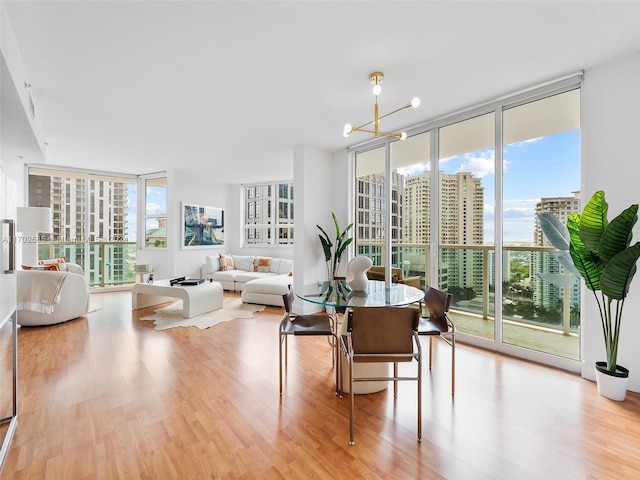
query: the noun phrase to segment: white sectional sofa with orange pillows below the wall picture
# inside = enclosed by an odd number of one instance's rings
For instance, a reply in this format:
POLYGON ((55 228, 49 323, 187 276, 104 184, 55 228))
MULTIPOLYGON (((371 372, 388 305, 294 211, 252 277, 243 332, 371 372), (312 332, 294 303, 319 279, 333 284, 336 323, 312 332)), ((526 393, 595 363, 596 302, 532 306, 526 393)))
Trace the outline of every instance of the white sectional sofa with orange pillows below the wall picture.
POLYGON ((202 278, 219 282, 224 290, 241 292, 245 303, 283 306, 282 295, 287 293, 293 282, 293 260, 251 255, 228 257, 233 261, 233 268, 223 271, 219 255, 207 256, 206 263, 202 265, 202 278), (258 259, 263 260, 259 267, 258 259), (262 271, 255 271, 258 268, 262 271))

